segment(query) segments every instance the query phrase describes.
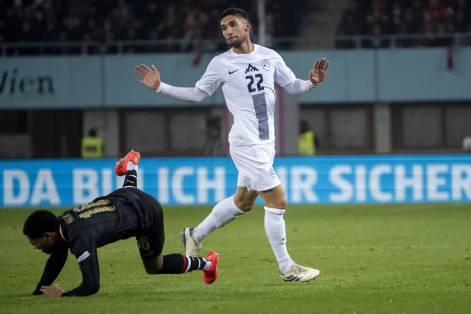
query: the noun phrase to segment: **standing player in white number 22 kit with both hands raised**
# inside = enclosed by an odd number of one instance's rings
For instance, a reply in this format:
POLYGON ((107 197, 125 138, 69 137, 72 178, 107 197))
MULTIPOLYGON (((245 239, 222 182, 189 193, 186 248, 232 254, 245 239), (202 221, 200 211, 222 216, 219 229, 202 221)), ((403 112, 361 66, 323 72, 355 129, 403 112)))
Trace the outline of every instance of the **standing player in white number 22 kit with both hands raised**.
POLYGON ((202 101, 222 85, 226 105, 233 114, 229 143, 232 160, 238 169, 236 193, 217 203, 197 227, 183 230, 185 253, 196 256, 208 234, 250 211, 260 195, 265 202, 265 232, 278 261, 281 278, 310 281, 319 275, 319 270, 294 263, 286 248, 283 220, 286 197, 272 166, 275 157, 274 83, 292 94, 310 91, 323 81, 328 61, 326 58, 316 60, 310 80, 300 80, 278 53, 252 44, 249 37, 251 24, 244 10, 224 10, 220 24, 231 49, 211 60, 195 87, 175 87, 161 82, 154 65, 139 64, 136 67, 136 73, 142 78, 138 82, 182 101, 202 101))

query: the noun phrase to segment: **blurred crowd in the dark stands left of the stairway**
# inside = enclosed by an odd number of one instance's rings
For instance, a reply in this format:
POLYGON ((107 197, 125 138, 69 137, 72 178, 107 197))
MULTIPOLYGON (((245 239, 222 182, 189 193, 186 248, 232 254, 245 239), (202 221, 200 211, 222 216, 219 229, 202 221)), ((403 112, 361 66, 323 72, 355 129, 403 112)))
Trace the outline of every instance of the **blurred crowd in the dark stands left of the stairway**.
MULTIPOLYGON (((295 36, 305 2, 267 1, 268 37, 295 36)), ((247 10, 256 36, 254 0, 0 0, 0 43, 166 40, 159 51, 224 50, 219 18, 231 6, 247 10)))

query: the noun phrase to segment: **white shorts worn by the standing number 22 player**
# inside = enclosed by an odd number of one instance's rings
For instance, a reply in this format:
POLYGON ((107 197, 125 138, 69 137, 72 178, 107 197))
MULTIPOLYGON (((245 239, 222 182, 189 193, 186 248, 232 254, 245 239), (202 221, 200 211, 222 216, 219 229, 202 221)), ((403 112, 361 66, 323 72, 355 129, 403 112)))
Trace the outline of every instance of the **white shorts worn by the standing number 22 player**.
POLYGON ((239 171, 237 186, 249 191, 267 191, 281 184, 273 168, 275 143, 231 146, 231 157, 239 171))

